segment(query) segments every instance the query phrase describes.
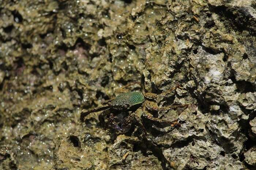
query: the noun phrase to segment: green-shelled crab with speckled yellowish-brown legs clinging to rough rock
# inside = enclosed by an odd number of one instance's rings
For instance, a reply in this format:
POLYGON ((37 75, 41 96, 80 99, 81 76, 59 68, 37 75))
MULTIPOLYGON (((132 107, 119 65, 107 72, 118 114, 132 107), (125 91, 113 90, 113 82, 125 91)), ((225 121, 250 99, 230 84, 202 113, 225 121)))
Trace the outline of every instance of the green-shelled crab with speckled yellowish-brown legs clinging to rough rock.
POLYGON ((144 134, 147 135, 147 131, 144 128, 144 125, 142 123, 141 118, 145 117, 147 119, 150 119, 152 121, 160 122, 160 123, 167 123, 171 126, 178 125, 177 121, 168 121, 159 119, 157 117, 153 117, 150 110, 153 111, 166 111, 174 108, 181 108, 181 107, 187 107, 189 104, 182 104, 182 105, 170 105, 167 107, 159 107, 157 103, 155 103, 154 99, 165 97, 166 95, 172 93, 176 88, 178 88, 180 85, 175 86, 174 88, 167 90, 166 92, 163 92, 161 94, 155 94, 151 92, 142 93, 138 91, 132 91, 129 92, 125 88, 132 84, 139 84, 138 82, 128 84, 124 86, 123 88, 119 89, 117 92, 121 93, 120 95, 110 99, 106 100, 102 103, 101 107, 97 107, 94 109, 91 109, 89 111, 82 110, 80 119, 84 121, 84 117, 89 115, 93 112, 99 112, 103 111, 99 114, 99 122, 102 125, 102 127, 105 127, 105 116, 108 117, 108 123, 117 131, 120 132, 128 132, 131 128, 133 120, 137 121, 139 123, 140 127, 142 127, 144 134), (123 122, 121 123, 121 127, 116 123, 116 114, 121 111, 133 111, 130 113, 127 117, 124 118, 123 122))

